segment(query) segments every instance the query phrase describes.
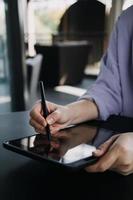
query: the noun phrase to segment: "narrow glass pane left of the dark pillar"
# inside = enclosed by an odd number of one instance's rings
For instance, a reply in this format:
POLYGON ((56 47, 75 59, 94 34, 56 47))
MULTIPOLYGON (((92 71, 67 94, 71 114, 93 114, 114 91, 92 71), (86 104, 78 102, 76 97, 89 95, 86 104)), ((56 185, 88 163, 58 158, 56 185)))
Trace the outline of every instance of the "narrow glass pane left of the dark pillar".
POLYGON ((10 102, 5 3, 0 0, 0 113, 11 110, 10 102))

